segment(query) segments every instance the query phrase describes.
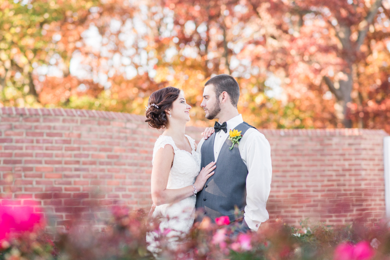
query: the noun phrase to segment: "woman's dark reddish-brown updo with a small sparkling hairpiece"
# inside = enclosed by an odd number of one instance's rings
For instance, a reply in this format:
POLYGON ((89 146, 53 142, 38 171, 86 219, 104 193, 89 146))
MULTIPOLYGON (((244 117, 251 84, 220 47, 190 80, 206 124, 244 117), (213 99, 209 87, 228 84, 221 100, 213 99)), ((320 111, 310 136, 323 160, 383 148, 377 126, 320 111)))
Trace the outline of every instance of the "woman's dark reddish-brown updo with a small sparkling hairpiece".
POLYGON ((165 110, 172 108, 172 103, 179 97, 179 94, 180 90, 174 87, 166 87, 153 92, 148 100, 145 122, 156 129, 165 128, 168 124, 165 110))

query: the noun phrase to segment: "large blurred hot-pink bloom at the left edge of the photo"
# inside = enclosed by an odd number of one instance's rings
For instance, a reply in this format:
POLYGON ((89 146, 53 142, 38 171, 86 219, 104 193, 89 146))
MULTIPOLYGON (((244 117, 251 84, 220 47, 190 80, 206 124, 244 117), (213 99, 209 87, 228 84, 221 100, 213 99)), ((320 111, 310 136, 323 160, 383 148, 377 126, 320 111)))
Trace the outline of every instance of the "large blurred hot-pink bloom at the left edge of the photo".
POLYGON ((38 223, 41 223, 41 216, 34 213, 32 207, 0 206, 0 241, 6 238, 11 231, 31 231, 38 223))

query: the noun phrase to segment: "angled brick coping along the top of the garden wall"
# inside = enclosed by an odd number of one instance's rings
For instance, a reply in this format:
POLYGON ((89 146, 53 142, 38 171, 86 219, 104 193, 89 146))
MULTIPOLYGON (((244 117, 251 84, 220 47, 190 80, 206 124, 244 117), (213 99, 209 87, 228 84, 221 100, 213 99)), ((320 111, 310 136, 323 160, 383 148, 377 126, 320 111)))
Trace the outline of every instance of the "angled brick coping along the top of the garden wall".
MULTIPOLYGON (((0 116, 73 116, 83 118, 104 118, 111 120, 135 120, 144 122, 146 117, 143 115, 98 111, 98 110, 81 110, 81 109, 47 109, 47 108, 16 108, 16 107, 2 107, 0 108, 0 116)), ((200 131, 204 128, 189 126, 187 131, 200 131)), ((261 133, 267 136, 388 136, 389 134, 384 130, 376 129, 259 129, 261 133)))

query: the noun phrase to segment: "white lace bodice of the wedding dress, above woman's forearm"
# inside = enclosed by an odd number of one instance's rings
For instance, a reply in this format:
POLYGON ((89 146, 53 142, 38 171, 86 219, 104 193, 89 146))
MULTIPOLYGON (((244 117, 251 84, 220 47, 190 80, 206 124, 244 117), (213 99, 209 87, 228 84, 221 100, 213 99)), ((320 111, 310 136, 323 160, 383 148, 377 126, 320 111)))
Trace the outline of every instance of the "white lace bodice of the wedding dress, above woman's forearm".
POLYGON ((160 135, 153 149, 152 164, 156 152, 166 145, 171 145, 175 152, 174 162, 169 173, 167 188, 175 189, 193 185, 196 176, 200 171, 200 154, 195 151, 195 140, 190 136, 185 135, 191 145, 191 153, 186 150, 180 150, 176 147, 171 136, 160 135))

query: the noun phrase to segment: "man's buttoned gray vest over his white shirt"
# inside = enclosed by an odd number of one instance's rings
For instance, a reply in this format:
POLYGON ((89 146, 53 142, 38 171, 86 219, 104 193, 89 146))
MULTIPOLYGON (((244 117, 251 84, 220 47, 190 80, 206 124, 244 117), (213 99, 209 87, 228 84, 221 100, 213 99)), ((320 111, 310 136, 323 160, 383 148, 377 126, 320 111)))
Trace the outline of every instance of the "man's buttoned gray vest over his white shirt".
MULTIPOLYGON (((242 131, 241 134, 244 135, 250 128, 252 126, 244 122, 234 129, 242 131)), ((214 139, 215 133, 203 142, 201 168, 215 160, 214 139)), ((235 144, 232 150, 229 149, 232 144, 227 138, 219 152, 214 175, 196 195, 196 209, 200 213, 197 221, 200 221, 203 216, 210 217, 213 222, 217 217, 228 216, 233 222, 235 221, 234 207, 237 206, 240 211, 244 211, 248 169, 241 159, 238 145, 235 144)))

